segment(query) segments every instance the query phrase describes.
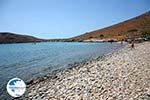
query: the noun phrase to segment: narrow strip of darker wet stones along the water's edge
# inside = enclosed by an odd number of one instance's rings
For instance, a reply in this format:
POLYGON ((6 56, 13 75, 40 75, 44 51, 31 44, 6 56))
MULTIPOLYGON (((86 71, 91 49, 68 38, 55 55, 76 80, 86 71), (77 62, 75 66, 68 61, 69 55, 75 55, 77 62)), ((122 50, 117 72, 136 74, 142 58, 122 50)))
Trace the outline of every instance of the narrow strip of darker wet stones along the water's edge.
MULTIPOLYGON (((84 43, 87 43, 87 42, 84 42, 84 43)), ((91 42, 91 43, 94 43, 94 42, 91 42)), ((106 56, 112 55, 113 53, 119 51, 120 49, 125 48, 126 45, 127 44, 125 43, 124 45, 122 45, 122 47, 118 48, 117 50, 113 50, 113 51, 111 51, 109 53, 106 53, 106 54, 103 54, 101 56, 89 57, 89 58, 87 58, 87 59, 85 59, 85 60, 83 60, 81 62, 74 62, 74 63, 66 65, 63 68, 54 69, 53 71, 51 71, 50 73, 47 73, 45 75, 37 76, 37 77, 31 78, 29 80, 26 80, 26 84, 27 85, 36 84, 36 83, 38 83, 38 82, 40 82, 40 81, 42 81, 44 79, 47 79, 47 78, 54 79, 57 76, 57 74, 59 74, 59 73, 65 73, 66 71, 72 70, 73 68, 80 68, 82 66, 86 66, 86 65, 95 63, 97 61, 102 61, 103 59, 105 59, 106 56)))

